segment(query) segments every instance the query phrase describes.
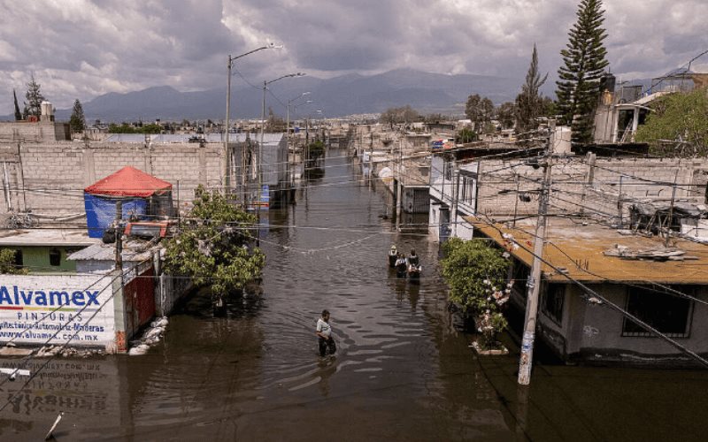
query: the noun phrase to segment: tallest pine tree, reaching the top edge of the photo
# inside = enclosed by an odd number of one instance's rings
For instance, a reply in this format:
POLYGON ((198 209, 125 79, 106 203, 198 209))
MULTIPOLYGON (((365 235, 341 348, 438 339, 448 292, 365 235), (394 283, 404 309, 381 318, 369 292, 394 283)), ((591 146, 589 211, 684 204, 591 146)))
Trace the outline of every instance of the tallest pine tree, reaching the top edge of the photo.
POLYGON ((561 123, 571 125, 572 141, 592 141, 593 118, 600 95, 600 77, 605 59, 602 0, 581 0, 575 13, 578 20, 568 32, 567 49, 561 50, 563 63, 558 69, 558 113, 561 123))

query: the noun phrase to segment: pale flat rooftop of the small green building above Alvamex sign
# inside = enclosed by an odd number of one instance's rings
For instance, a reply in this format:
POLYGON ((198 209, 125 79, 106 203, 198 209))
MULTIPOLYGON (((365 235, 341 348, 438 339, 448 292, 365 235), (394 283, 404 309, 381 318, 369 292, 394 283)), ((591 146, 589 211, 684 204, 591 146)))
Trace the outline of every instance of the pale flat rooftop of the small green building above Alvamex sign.
POLYGON ((0 247, 85 247, 101 242, 86 229, 14 229, 0 232, 0 247))

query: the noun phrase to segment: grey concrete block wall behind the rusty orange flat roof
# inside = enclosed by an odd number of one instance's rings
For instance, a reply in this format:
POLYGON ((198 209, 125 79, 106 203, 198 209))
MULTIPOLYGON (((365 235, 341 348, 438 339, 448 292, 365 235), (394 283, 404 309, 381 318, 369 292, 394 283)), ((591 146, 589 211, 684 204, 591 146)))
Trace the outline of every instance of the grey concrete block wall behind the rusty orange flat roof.
MULTIPOLYGON (((670 202, 674 182, 676 202, 705 202, 708 161, 597 159, 591 184, 590 169, 586 157, 556 161, 552 169, 550 214, 576 214, 582 210, 604 221, 615 223, 620 216, 626 221, 632 204, 670 202)), ((537 213, 542 180, 543 168, 534 169, 519 160, 482 162, 478 213, 499 218, 513 216, 514 208, 517 217, 537 213), (526 194, 531 201, 519 201, 519 194, 526 194)))

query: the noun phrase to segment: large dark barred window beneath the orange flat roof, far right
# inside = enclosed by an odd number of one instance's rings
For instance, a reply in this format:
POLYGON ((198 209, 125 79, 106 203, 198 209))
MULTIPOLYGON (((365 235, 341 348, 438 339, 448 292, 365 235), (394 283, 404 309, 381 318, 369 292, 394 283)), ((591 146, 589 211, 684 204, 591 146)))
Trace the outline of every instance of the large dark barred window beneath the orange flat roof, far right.
MULTIPOLYGON (((690 286, 673 286, 681 293, 693 294, 690 286)), ((693 302, 648 288, 629 287, 627 311, 671 338, 688 338, 693 302)), ((654 336, 625 317, 622 336, 654 336)))

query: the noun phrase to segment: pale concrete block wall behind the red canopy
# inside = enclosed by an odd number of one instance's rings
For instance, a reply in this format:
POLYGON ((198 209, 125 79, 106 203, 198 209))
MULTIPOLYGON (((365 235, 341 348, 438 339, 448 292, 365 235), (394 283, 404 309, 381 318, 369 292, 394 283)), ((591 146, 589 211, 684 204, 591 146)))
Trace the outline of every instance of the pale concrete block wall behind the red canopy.
MULTIPOLYGON (((199 184, 221 187, 223 149, 220 144, 90 143, 80 141, 0 145, 0 179, 9 188, 13 209, 63 216, 84 211, 83 189, 127 165, 171 182, 174 199, 191 202, 199 184), (4 179, 7 170, 7 182, 4 179)), ((6 215, 6 193, 0 197, 6 215)), ((182 206, 182 210, 186 209, 182 206)))

